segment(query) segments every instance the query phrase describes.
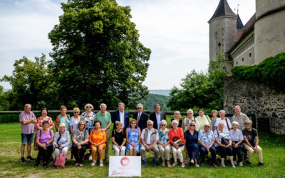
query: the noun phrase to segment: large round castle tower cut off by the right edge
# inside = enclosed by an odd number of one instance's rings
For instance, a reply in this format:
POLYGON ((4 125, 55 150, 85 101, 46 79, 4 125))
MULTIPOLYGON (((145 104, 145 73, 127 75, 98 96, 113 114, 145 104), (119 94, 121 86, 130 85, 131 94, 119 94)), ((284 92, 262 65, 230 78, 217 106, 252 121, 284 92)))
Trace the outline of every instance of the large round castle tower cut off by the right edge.
POLYGON ((285 51, 285 1, 256 0, 255 64, 285 51))

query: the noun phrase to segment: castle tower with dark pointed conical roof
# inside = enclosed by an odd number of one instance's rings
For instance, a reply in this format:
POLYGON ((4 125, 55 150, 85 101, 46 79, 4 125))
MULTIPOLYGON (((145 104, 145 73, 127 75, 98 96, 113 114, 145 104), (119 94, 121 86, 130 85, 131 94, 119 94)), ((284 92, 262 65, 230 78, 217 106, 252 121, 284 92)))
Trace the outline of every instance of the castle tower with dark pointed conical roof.
POLYGON ((237 41, 237 28, 242 21, 229 7, 227 0, 220 0, 209 23, 209 61, 217 59, 219 53, 226 53, 237 41), (239 20, 239 21, 238 21, 239 20))

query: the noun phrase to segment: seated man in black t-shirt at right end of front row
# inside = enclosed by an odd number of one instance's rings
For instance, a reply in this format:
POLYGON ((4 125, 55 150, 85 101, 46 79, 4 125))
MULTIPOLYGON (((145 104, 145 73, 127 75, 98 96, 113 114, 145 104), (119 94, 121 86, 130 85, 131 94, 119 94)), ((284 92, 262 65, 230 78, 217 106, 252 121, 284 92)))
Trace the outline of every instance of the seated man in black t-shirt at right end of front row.
POLYGON ((252 128, 252 120, 245 121, 245 128, 242 130, 244 135, 244 148, 247 150, 247 164, 252 164, 252 155, 257 152, 259 166, 263 166, 262 149, 259 147, 257 130, 252 128))

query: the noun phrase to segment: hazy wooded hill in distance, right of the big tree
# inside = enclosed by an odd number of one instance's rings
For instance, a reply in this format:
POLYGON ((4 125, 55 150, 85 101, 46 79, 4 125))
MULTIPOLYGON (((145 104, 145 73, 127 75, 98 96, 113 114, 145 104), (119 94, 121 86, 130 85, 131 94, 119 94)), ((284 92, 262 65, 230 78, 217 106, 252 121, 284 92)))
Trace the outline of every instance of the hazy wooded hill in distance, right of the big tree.
POLYGON ((169 108, 167 108, 169 98, 169 96, 150 93, 147 99, 140 100, 140 103, 142 103, 144 110, 155 110, 154 106, 157 103, 160 104, 161 110, 169 110, 169 108))

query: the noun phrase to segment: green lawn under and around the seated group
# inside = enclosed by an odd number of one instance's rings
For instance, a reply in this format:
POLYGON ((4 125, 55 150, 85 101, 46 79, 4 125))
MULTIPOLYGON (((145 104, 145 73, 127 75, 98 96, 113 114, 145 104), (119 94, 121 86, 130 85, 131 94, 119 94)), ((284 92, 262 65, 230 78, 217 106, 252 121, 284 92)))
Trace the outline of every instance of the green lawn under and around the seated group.
MULTIPOLYGON (((259 142, 263 149, 264 167, 257 166, 257 154, 252 158, 252 165, 244 164, 244 167, 235 169, 229 164, 226 168, 214 168, 208 164, 200 168, 186 165, 184 169, 180 165, 157 167, 152 164, 152 154, 148 153, 148 164, 142 167, 142 177, 284 177, 285 137, 259 132, 259 142)), ((20 124, 0 124, 0 177, 108 177, 106 162, 103 168, 98 167, 98 164, 91 167, 90 161, 85 161, 83 167, 75 167, 73 161, 68 159, 64 169, 52 166, 44 169, 42 165, 35 169, 35 162, 20 163, 20 146, 20 124)), ((37 152, 32 150, 32 157, 36 158, 36 155, 37 152)), ((110 155, 114 155, 113 150, 110 150, 110 155)))

